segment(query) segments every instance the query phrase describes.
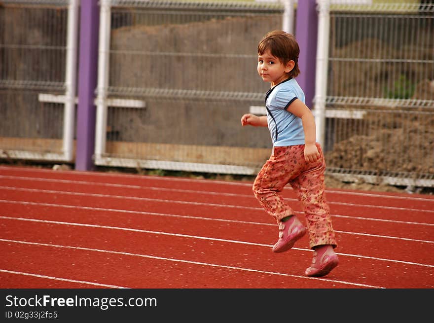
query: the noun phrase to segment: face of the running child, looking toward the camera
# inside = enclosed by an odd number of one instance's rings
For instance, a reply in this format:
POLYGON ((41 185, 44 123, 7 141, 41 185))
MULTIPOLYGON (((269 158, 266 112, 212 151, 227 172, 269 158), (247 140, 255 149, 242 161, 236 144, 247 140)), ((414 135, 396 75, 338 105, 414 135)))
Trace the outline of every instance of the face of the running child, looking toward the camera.
POLYGON ((275 86, 289 77, 287 73, 291 72, 294 65, 294 61, 289 61, 287 65, 283 65, 267 49, 262 55, 258 55, 257 71, 264 82, 270 82, 271 86, 275 86))

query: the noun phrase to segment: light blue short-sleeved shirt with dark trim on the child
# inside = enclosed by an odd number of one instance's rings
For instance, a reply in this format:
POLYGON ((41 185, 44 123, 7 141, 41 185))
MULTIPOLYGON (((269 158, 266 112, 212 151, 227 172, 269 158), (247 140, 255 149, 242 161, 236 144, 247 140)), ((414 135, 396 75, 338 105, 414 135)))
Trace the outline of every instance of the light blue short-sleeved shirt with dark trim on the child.
POLYGON ((273 146, 305 143, 301 118, 287 110, 295 99, 304 103, 304 92, 294 78, 289 78, 272 87, 265 96, 268 129, 273 146))

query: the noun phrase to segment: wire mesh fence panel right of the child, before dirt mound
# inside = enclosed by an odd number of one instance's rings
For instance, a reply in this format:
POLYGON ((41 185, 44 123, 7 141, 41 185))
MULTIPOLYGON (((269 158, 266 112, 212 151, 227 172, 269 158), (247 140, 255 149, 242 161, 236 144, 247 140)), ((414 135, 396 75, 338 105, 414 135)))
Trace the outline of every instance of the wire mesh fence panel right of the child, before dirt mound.
POLYGON ((433 14, 430 3, 331 6, 329 172, 433 186, 433 14))

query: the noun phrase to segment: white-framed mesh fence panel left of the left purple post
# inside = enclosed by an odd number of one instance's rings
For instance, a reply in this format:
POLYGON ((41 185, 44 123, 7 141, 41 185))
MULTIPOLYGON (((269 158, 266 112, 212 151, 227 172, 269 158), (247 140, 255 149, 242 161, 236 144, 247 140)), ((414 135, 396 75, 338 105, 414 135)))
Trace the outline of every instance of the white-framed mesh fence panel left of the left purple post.
POLYGON ((78 1, 1 1, 0 157, 73 161, 78 1))

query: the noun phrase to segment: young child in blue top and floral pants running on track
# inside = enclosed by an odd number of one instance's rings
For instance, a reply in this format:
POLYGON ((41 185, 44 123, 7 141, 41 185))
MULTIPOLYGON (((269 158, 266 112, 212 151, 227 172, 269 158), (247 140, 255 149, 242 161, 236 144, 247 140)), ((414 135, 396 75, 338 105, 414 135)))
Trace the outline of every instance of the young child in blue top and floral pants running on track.
POLYGON ((294 79, 300 73, 299 52, 294 36, 283 31, 270 32, 259 42, 257 72, 263 81, 271 83, 265 95, 267 115, 244 114, 241 124, 268 126, 270 130, 273 150, 253 183, 253 192, 278 223, 279 239, 273 251, 291 249, 306 233, 306 227, 281 195, 289 183, 303 205, 309 245, 314 250, 312 265, 305 274, 325 276, 339 259, 325 199, 325 159, 321 145, 315 142, 313 114, 294 79))

